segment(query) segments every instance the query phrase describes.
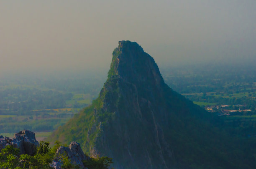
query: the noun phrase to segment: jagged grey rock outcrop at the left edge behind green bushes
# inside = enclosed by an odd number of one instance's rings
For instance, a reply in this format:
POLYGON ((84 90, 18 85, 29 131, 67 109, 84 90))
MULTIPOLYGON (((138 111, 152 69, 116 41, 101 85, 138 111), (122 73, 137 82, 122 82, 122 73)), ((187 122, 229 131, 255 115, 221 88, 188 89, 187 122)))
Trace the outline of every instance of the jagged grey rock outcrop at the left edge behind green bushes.
POLYGON ((7 145, 12 145, 15 148, 20 149, 20 154, 34 155, 36 154, 36 147, 39 146, 36 141, 35 133, 28 130, 20 131, 14 134, 13 139, 9 137, 0 138, 0 150, 5 148, 7 145))

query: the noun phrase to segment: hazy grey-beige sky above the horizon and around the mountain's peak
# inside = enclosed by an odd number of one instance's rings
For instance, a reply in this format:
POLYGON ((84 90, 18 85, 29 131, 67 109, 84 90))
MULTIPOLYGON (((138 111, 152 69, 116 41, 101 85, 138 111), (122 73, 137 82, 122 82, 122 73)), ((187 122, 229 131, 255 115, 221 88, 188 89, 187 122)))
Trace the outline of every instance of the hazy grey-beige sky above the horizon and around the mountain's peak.
POLYGON ((256 61, 256 0, 0 0, 0 73, 108 70, 119 40, 159 66, 256 61))

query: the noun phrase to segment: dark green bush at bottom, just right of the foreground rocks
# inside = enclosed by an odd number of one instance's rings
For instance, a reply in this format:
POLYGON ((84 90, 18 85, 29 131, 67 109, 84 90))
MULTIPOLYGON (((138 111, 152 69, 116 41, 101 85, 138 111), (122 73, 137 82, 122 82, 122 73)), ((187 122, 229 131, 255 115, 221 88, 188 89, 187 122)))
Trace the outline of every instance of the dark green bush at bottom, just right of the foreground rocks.
POLYGON ((108 169, 108 166, 113 163, 112 158, 107 156, 97 156, 97 158, 92 158, 88 161, 83 161, 84 166, 88 169, 108 169))

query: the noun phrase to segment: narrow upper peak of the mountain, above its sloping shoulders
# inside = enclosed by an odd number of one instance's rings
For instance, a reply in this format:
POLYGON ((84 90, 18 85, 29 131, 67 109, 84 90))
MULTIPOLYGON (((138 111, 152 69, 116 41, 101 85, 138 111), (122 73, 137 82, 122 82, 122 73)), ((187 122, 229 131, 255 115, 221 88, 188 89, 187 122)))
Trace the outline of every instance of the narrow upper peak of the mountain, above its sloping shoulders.
POLYGON ((138 43, 123 40, 118 44, 118 48, 113 51, 108 77, 118 76, 131 83, 151 81, 155 86, 164 84, 154 58, 145 53, 138 43))

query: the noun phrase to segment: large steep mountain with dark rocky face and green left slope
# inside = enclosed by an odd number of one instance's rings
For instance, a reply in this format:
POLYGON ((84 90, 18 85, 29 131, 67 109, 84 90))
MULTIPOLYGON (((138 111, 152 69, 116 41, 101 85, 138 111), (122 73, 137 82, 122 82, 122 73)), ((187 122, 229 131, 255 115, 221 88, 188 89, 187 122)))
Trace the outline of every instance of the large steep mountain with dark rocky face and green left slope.
POLYGON ((164 83, 154 59, 136 42, 120 41, 108 79, 92 105, 50 137, 76 140, 91 156, 113 158, 115 169, 252 168, 233 153, 218 117, 164 83))

